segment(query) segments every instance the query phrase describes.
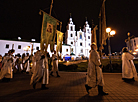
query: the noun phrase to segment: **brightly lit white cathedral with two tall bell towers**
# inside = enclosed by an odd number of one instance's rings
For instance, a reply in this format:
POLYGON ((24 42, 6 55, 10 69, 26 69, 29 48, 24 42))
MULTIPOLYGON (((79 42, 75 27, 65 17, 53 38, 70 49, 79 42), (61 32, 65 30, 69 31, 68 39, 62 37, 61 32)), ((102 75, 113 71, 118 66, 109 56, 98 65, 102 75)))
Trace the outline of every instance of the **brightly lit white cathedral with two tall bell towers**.
POLYGON ((75 31, 75 24, 70 17, 65 33, 65 43, 71 45, 71 53, 75 56, 89 57, 91 45, 91 28, 86 20, 83 30, 75 31))

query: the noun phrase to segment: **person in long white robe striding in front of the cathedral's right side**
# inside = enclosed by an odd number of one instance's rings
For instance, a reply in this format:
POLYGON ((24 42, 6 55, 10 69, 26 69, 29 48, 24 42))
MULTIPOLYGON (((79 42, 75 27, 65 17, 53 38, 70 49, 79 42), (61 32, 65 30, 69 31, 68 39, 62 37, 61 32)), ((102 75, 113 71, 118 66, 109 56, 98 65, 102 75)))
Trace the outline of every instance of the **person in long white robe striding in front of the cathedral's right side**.
POLYGON ((102 74, 102 64, 100 62, 99 53, 96 50, 96 44, 92 43, 89 55, 85 88, 89 94, 89 90, 91 88, 98 86, 98 95, 108 95, 108 93, 103 91, 104 79, 102 74))

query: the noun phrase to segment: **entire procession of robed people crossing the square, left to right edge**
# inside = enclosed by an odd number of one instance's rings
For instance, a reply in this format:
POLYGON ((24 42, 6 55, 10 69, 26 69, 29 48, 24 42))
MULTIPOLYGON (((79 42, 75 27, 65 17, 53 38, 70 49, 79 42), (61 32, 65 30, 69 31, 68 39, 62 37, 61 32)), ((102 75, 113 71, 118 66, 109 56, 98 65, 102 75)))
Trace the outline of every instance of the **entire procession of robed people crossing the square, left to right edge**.
MULTIPOLYGON (((52 57, 48 52, 38 50, 34 55, 17 54, 13 56, 15 51, 9 50, 5 56, 0 55, 0 80, 10 81, 13 78, 13 73, 26 73, 31 75, 30 85, 36 88, 36 84, 41 82, 41 89, 48 89, 49 76, 58 73, 58 56, 56 51, 52 57), (52 65, 52 67, 51 67, 52 65), (51 72, 50 72, 51 70, 51 72)), ((133 63, 134 56, 129 53, 128 49, 122 49, 122 80, 135 81, 137 71, 133 63)), ((91 44, 90 56, 88 61, 88 69, 86 76, 85 88, 89 94, 91 88, 98 87, 98 95, 108 95, 103 91, 104 78, 102 74, 102 63, 95 43, 91 44)))

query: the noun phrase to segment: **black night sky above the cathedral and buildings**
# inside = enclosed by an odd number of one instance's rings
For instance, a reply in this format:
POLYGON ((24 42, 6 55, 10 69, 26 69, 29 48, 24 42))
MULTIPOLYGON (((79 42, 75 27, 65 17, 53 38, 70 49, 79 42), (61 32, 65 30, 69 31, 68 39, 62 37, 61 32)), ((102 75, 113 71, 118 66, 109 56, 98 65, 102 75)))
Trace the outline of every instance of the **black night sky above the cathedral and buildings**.
MULTIPOLYGON (((101 0, 54 0, 52 16, 63 23, 62 32, 66 32, 70 13, 76 25, 76 31, 83 28, 85 17, 92 25, 99 24, 101 0)), ((35 38, 40 41, 42 15, 39 9, 49 13, 51 0, 0 0, 0 39, 35 38)), ((137 36, 138 0, 106 0, 106 25, 116 30, 111 38, 112 52, 121 51, 126 46, 127 32, 137 36)), ((97 31, 98 34, 98 31, 97 31)), ((98 35, 97 35, 98 37, 98 35)), ((108 53, 107 46, 103 51, 108 53)))

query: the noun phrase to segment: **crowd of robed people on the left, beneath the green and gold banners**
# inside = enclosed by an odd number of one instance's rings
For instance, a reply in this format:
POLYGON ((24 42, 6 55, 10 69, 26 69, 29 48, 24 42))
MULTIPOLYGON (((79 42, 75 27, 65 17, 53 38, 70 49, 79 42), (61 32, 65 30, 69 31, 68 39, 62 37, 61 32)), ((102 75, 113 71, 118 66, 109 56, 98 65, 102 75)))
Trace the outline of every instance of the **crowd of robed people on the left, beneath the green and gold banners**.
MULTIPOLYGON (((30 85, 36 88, 38 82, 42 83, 41 89, 47 89, 49 83, 49 72, 56 71, 58 74, 58 57, 56 51, 52 57, 48 52, 38 50, 34 55, 23 53, 13 55, 14 49, 11 49, 3 57, 0 55, 0 80, 9 82, 15 73, 30 74, 30 85), (52 66, 51 66, 52 65, 52 66)), ((50 74, 53 76, 53 74, 50 74)))

